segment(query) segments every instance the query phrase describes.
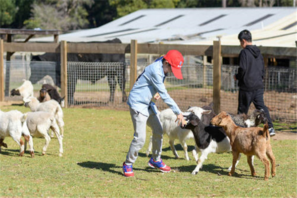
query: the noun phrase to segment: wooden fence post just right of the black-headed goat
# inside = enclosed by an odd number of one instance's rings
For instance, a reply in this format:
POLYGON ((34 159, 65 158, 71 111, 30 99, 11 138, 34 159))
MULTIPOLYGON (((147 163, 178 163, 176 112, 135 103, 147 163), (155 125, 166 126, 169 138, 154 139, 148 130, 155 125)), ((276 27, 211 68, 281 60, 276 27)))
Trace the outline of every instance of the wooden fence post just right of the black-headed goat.
POLYGON ((68 97, 67 97, 67 42, 61 41, 61 96, 65 96, 65 108, 68 107, 68 97))

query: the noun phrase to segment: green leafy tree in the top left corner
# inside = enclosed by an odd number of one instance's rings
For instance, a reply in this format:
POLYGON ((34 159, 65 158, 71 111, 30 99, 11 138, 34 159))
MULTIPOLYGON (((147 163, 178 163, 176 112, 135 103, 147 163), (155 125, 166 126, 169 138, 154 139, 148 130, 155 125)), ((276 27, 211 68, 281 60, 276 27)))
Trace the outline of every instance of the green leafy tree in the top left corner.
POLYGON ((9 25, 14 21, 16 11, 15 0, 1 0, 0 27, 9 27, 9 25))

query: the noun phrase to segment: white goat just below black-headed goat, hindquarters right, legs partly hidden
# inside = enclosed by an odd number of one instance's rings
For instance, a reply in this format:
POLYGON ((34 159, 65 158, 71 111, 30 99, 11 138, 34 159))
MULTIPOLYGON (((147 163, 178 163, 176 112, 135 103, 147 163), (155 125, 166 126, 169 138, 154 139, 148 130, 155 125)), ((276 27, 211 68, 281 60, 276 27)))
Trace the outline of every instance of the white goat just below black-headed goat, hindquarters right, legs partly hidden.
MULTIPOLYGON (((35 97, 29 97, 29 99, 25 101, 25 106, 29 106, 32 112, 46 111, 49 112, 51 115, 54 115, 54 118, 56 119, 57 124, 61 129, 61 136, 64 136, 63 111, 60 104, 56 100, 51 99, 46 102, 40 102, 35 97)), ((53 137, 53 133, 51 134, 51 136, 53 137)))

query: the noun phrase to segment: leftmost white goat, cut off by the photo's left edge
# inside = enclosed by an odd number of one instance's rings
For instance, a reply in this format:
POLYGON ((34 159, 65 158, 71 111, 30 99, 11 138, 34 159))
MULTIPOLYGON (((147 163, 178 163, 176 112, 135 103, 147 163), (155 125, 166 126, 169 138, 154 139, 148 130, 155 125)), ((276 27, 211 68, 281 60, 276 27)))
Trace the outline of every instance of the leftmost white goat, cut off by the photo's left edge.
POLYGON ((0 151, 4 138, 10 136, 20 146, 19 156, 23 156, 25 148, 21 137, 24 136, 25 140, 29 142, 31 157, 34 157, 33 140, 25 124, 26 116, 27 114, 23 114, 18 110, 8 112, 0 110, 0 151))

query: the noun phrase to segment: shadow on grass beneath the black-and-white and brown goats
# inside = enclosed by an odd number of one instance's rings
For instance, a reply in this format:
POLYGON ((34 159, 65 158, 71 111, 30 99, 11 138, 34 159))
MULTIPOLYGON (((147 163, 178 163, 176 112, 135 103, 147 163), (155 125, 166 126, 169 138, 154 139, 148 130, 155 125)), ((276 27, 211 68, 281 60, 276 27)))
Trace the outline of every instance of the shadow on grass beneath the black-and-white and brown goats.
MULTIPOLYGON (((196 165, 191 165, 191 166, 180 166, 180 167, 176 167, 179 169, 180 172, 189 172, 189 173, 192 173, 192 171, 196 168, 196 165)), ((198 174, 203 174, 203 173, 200 173, 200 172, 210 172, 210 173, 213 173, 213 174, 216 174, 218 176, 228 176, 228 167, 220 167, 220 166, 216 166, 214 164, 203 164, 202 168, 200 168, 198 174)), ((241 169, 238 169, 236 168, 235 169, 235 173, 234 175, 232 175, 232 177, 237 177, 237 178, 245 178, 245 179, 255 179, 255 178, 258 178, 258 179, 263 179, 263 177, 261 176, 254 176, 252 177, 250 175, 250 171, 249 170, 241 170, 241 169), (237 173, 237 171, 243 171, 243 172, 246 172, 245 174, 239 174, 237 173)))

